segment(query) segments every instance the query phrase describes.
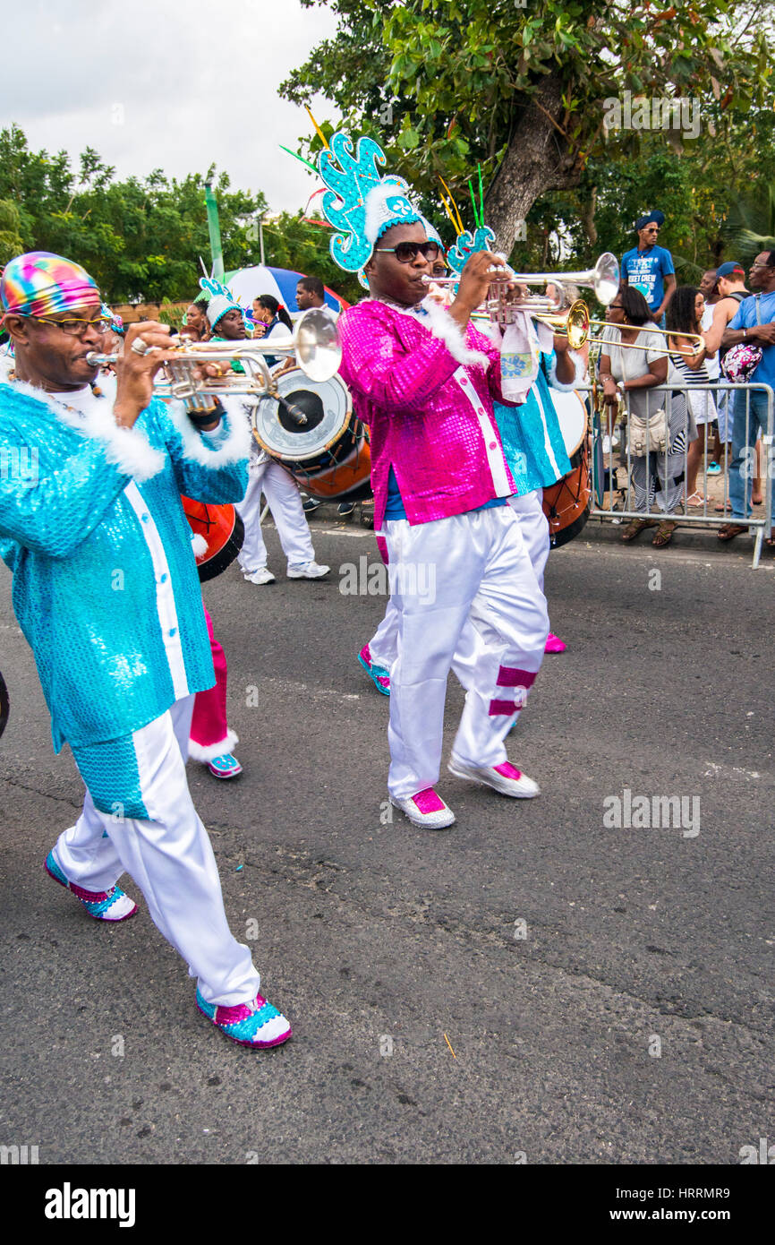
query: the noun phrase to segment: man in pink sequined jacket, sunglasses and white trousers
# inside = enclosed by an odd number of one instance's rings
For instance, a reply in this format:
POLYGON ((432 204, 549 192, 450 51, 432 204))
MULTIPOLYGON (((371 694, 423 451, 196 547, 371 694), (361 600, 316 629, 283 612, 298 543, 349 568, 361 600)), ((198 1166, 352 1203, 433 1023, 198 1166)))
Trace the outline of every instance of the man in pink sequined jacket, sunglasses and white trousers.
MULTIPOLYGON (((430 244, 433 247, 434 244, 430 244)), ((449 309, 425 303, 430 254, 422 223, 396 224, 364 265, 371 298, 338 321, 341 375, 371 430, 374 525, 386 539, 399 613, 391 672, 388 793, 412 822, 454 822, 439 778, 447 676, 470 618, 481 640, 450 771, 503 794, 539 787, 504 741, 535 681, 549 631, 504 458, 493 398, 500 355, 470 324, 489 251, 466 263, 449 309)))

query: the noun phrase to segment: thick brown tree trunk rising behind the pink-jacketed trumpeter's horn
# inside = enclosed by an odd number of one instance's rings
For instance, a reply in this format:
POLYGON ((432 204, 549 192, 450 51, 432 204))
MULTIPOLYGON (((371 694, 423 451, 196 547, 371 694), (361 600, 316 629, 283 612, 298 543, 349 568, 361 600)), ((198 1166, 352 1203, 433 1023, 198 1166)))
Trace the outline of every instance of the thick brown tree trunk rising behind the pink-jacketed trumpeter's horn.
POLYGON ((546 190, 577 186, 581 178, 565 138, 546 113, 561 123, 562 78, 555 73, 542 81, 525 108, 485 197, 485 220, 506 255, 521 237, 535 200, 546 190))

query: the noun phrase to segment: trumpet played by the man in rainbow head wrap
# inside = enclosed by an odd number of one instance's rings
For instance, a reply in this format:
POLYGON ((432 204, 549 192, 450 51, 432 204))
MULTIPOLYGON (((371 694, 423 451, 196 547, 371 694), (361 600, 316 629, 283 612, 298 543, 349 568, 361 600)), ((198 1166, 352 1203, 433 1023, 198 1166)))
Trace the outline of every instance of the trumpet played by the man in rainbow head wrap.
MULTIPOLYGON (((342 345, 333 319, 321 308, 310 308, 294 325, 294 334, 272 334, 264 340, 233 342, 193 342, 184 335, 169 339, 173 359, 162 364, 154 380, 154 393, 162 398, 180 398, 194 423, 205 423, 224 395, 248 393, 255 397, 274 397, 284 406, 295 423, 306 423, 304 411, 285 401, 277 393, 276 381, 266 362, 266 355, 294 357, 305 376, 313 381, 327 381, 342 362, 342 345), (241 372, 231 369, 224 376, 202 376, 198 369, 208 364, 240 364, 241 372)), ((91 351, 86 361, 92 367, 114 364, 121 352, 101 355, 91 351)))

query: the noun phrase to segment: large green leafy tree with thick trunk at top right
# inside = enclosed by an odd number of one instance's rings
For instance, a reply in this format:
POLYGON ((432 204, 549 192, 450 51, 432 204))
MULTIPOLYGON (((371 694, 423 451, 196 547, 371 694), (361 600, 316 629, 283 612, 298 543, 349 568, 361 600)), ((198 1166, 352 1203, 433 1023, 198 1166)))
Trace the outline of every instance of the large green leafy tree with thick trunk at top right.
POLYGON ((338 31, 281 93, 326 95, 437 204, 439 173, 460 194, 480 163, 486 220, 506 251, 542 195, 591 192, 590 168, 637 163, 649 139, 677 154, 723 146, 733 115, 771 107, 770 0, 302 0, 330 4, 338 31), (698 133, 680 100, 699 108, 698 133), (615 129, 617 105, 629 107, 628 129, 615 129))

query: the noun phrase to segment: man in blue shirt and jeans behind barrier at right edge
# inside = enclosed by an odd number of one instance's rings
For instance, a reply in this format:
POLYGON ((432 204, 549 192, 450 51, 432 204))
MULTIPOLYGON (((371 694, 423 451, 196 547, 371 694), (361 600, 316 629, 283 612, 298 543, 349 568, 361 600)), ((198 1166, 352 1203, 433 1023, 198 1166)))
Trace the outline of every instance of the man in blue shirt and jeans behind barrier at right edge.
MULTIPOLYGON (((756 255, 748 274, 748 284, 758 293, 744 299, 738 308, 722 337, 722 349, 728 350, 744 341, 760 346, 761 360, 749 377, 750 383, 769 385, 770 390, 775 390, 775 250, 763 250, 756 255)), ((719 540, 731 540, 741 532, 748 532, 745 519, 750 514, 750 481, 755 474, 756 438, 761 432, 764 439, 768 432, 768 396, 766 390, 739 390, 735 393, 729 464, 731 523, 719 528, 719 540)), ((775 548, 775 489, 766 543, 775 548)))

